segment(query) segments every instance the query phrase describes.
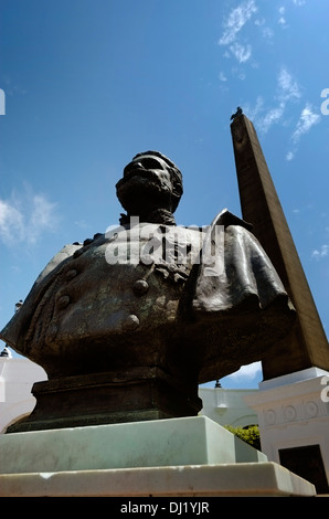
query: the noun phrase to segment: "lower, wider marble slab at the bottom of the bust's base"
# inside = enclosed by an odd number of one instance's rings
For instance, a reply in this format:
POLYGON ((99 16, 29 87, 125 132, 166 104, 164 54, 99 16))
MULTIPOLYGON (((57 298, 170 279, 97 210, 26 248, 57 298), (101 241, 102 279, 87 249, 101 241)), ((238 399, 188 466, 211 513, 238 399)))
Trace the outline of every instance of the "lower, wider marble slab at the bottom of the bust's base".
POLYGON ((0 476, 2 497, 315 496, 275 463, 235 463, 0 476))

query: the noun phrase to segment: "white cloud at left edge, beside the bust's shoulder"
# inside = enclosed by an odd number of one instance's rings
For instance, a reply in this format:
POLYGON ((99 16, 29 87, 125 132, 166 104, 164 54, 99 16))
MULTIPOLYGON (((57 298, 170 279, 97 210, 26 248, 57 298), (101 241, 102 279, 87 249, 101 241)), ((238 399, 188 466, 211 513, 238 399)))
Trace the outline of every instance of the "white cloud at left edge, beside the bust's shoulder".
POLYGON ((54 210, 44 194, 12 193, 9 200, 0 200, 0 240, 6 245, 35 244, 42 233, 55 230, 54 210))

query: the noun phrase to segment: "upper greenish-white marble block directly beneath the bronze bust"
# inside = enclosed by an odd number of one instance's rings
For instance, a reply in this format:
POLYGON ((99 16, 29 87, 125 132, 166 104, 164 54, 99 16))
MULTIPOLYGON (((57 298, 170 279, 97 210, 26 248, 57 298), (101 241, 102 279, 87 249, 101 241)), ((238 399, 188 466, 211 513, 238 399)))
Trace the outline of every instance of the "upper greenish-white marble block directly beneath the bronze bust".
POLYGON ((0 474, 265 462, 206 416, 0 436, 0 474))

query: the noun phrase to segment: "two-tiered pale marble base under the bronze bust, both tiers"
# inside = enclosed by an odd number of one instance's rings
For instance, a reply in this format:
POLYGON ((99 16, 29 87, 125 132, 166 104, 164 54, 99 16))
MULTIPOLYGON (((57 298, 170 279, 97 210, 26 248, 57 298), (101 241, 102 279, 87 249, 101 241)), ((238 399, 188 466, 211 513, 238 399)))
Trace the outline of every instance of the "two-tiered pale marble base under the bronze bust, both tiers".
POLYGON ((205 416, 0 436, 0 496, 314 496, 205 416))

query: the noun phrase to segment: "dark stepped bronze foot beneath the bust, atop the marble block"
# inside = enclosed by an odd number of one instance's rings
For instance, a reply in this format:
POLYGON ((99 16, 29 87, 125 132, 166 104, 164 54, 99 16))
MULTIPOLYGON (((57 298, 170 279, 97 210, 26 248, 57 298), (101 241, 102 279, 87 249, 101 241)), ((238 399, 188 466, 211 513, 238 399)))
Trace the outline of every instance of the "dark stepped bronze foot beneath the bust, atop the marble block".
POLYGON ((147 367, 36 382, 32 393, 33 412, 7 433, 195 416, 202 407, 197 380, 184 385, 147 367))

